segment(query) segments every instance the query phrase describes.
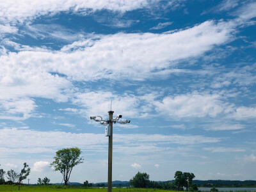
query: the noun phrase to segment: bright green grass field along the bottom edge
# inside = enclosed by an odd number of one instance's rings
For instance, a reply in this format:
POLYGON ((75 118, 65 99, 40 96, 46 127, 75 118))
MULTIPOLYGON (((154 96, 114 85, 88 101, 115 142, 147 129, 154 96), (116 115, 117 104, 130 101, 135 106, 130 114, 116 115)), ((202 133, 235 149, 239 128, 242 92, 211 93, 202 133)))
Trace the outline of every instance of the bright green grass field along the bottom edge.
MULTIPOLYGON (((19 191, 18 186, 10 186, 10 185, 0 185, 1 192, 10 192, 10 191, 19 191)), ((108 189, 99 189, 99 188, 79 188, 79 187, 72 187, 72 186, 20 186, 20 191, 26 192, 51 192, 51 191, 67 191, 67 192, 107 192, 108 189)), ((115 188, 112 189, 113 192, 174 192, 174 191, 166 191, 161 189, 136 189, 136 188, 129 188, 129 189, 120 189, 115 188)), ((177 192, 177 191, 175 191, 177 192)))

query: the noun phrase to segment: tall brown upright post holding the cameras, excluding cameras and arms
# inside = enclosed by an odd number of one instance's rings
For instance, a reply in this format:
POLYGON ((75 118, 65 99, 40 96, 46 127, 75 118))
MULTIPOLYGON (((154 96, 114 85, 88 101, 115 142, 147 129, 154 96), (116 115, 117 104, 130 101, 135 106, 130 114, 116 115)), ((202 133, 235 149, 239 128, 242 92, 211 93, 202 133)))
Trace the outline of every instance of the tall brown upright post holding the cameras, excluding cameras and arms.
POLYGON ((112 191, 113 113, 114 111, 108 111, 110 127, 110 136, 108 137, 108 192, 112 191))

